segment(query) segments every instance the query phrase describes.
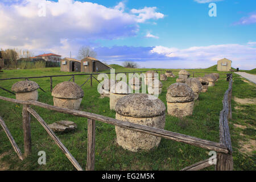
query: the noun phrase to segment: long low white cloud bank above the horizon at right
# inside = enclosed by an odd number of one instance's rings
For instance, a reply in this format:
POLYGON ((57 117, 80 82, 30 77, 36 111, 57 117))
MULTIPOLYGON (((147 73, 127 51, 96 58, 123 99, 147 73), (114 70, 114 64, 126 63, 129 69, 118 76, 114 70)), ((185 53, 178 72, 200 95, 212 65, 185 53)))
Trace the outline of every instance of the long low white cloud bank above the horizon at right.
MULTIPOLYGON (((254 43, 241 44, 223 44, 213 46, 190 47, 187 49, 168 48, 156 46, 151 53, 158 53, 176 58, 176 63, 180 63, 180 68, 201 68, 209 67, 217 63, 224 57, 232 60, 232 67, 240 67, 242 69, 252 69, 256 67, 256 48, 252 47, 254 43), (183 61, 180 61, 183 60, 183 61), (185 65, 184 63, 187 63, 185 65)), ((175 63, 175 61, 171 61, 175 63)))

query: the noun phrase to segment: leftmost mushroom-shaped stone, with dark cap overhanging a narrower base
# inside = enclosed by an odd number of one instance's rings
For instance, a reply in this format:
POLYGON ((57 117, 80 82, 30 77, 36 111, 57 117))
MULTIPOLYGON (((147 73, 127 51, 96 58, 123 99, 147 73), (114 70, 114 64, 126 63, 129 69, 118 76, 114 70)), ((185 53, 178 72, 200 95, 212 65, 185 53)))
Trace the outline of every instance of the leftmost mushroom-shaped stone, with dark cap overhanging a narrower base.
POLYGON ((16 94, 16 100, 28 101, 38 100, 39 85, 34 81, 18 81, 11 87, 16 94))

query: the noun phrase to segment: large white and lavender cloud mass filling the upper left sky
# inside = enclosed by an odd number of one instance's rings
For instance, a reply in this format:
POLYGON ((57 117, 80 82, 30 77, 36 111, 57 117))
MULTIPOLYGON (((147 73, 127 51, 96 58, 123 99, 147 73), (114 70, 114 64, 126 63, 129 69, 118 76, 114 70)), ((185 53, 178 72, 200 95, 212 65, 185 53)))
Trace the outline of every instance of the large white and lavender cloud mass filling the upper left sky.
POLYGON ((155 7, 145 7, 131 13, 125 4, 105 7, 91 2, 59 0, 15 0, 0 2, 0 47, 29 48, 47 52, 51 49, 68 52, 70 48, 92 43, 97 39, 117 39, 135 36, 139 23, 163 18, 155 7), (46 5, 46 16, 38 16, 39 5, 46 5), (63 42, 65 40, 65 42, 63 42), (64 44, 66 46, 64 46, 64 44))

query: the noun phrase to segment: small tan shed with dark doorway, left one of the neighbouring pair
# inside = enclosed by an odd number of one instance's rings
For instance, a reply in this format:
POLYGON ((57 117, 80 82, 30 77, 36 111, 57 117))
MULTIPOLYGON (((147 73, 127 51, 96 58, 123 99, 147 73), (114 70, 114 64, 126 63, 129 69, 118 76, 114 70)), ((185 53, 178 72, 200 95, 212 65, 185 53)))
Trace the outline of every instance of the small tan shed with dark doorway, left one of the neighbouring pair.
POLYGON ((63 72, 81 72, 81 61, 65 57, 60 60, 60 71, 63 72))

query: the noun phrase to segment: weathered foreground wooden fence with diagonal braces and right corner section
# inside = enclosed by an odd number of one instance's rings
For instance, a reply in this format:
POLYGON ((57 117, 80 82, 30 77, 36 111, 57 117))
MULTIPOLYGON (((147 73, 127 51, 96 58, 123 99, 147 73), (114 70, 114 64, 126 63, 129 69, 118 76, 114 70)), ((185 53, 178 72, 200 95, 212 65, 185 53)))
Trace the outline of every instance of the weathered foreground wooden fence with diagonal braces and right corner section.
MULTIPOLYGON (((122 127, 123 129, 150 134, 156 137, 162 137, 162 138, 174 140, 176 142, 183 142, 183 143, 191 144, 192 146, 197 146, 200 148, 205 148, 207 150, 216 151, 217 164, 215 169, 218 171, 232 170, 233 169, 232 144, 231 144, 229 126, 228 126, 229 119, 232 118, 231 98, 232 98, 232 75, 230 75, 230 78, 229 78, 229 88, 228 90, 226 90, 224 94, 223 110, 220 112, 220 142, 212 142, 209 140, 191 137, 189 135, 174 133, 172 131, 162 130, 155 127, 149 127, 149 126, 137 125, 135 123, 119 121, 118 119, 105 117, 103 115, 98 115, 94 113, 88 113, 86 111, 64 109, 61 107, 44 104, 38 101, 19 101, 13 98, 0 96, 0 100, 23 105, 22 116, 23 116, 23 135, 24 135, 23 136, 24 137, 24 158, 26 158, 28 155, 31 154, 30 119, 32 115, 44 127, 44 129, 47 131, 49 136, 55 141, 57 146, 60 147, 60 149, 64 152, 67 158, 71 161, 73 166, 75 166, 77 170, 82 170, 80 164, 70 154, 70 152, 63 145, 63 143, 61 143, 60 139, 55 135, 55 133, 53 133, 53 131, 49 128, 49 126, 44 121, 44 119, 41 118, 40 115, 30 107, 30 105, 39 106, 44 109, 57 111, 59 113, 71 114, 77 117, 88 118, 88 148, 87 148, 86 170, 90 170, 90 171, 94 170, 94 162, 95 162, 95 137, 96 137, 95 121, 101 121, 104 123, 108 123, 110 125, 122 127)), ((19 158, 23 160, 22 153, 20 152, 19 147, 16 145, 13 137, 11 136, 9 129, 5 125, 5 122, 3 121, 1 116, 0 116, 0 124, 3 127, 5 133, 7 134, 7 137, 9 138, 15 152, 18 154, 19 158)), ((206 159, 181 170, 194 171, 194 170, 200 170, 212 165, 213 163, 209 163, 209 159, 206 159)))

